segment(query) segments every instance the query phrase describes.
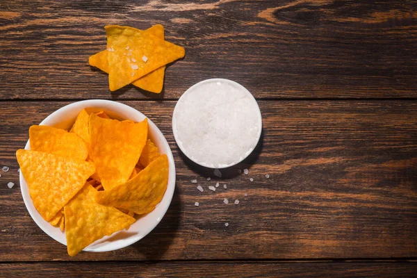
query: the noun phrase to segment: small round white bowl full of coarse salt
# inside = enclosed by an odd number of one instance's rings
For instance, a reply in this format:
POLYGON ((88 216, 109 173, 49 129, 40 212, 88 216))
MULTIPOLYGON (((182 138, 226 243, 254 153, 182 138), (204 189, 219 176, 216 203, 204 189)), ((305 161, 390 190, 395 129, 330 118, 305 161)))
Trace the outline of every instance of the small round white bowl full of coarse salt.
POLYGON ((207 79, 179 98, 172 131, 191 161, 210 168, 243 161, 261 138, 262 117, 252 94, 228 79, 207 79))

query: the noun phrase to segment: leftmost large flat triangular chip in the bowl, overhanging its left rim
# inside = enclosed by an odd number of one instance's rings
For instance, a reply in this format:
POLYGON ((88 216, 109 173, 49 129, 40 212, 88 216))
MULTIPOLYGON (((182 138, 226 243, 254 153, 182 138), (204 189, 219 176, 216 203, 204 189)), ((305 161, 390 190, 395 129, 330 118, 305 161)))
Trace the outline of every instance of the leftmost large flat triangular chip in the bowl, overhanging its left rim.
POLYGON ((19 149, 20 171, 28 183, 33 205, 50 221, 95 172, 93 163, 44 152, 19 149))

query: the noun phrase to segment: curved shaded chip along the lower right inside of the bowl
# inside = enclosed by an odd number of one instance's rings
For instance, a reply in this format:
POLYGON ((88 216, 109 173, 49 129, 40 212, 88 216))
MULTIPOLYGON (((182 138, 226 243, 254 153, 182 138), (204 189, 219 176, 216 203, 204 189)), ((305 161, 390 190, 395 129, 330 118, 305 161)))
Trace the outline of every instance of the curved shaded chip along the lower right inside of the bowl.
POLYGON ((110 190, 97 192, 96 202, 105 206, 149 213, 161 202, 168 183, 168 158, 159 156, 133 179, 110 190))

